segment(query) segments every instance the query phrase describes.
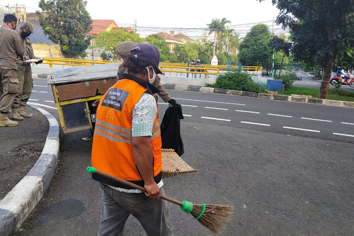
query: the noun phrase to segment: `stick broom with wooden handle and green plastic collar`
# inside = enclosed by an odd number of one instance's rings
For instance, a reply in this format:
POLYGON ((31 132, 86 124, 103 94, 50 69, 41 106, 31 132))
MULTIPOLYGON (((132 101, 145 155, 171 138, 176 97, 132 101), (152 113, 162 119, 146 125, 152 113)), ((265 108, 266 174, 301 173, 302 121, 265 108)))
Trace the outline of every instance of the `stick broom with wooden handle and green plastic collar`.
MULTIPOLYGON (((96 173, 104 177, 110 178, 118 183, 129 186, 133 189, 138 189, 143 192, 146 192, 145 188, 136 184, 133 184, 124 179, 120 179, 113 175, 107 174, 103 171, 100 171, 94 167, 88 166, 86 170, 90 173, 96 173)), ((198 220, 202 225, 209 229, 213 233, 219 233, 222 229, 225 229, 225 223, 228 222, 232 216, 234 207, 231 205, 216 204, 216 205, 206 205, 204 203, 200 205, 195 205, 192 202, 188 201, 177 201, 173 198, 162 195, 162 199, 175 203, 179 205, 181 209, 188 213, 192 214, 194 219, 198 220)))

